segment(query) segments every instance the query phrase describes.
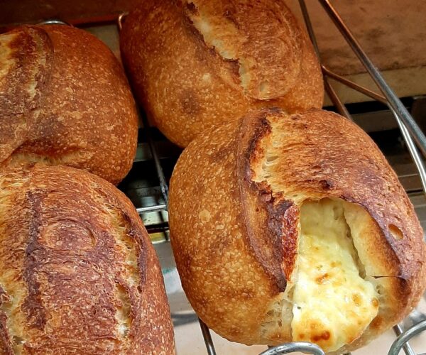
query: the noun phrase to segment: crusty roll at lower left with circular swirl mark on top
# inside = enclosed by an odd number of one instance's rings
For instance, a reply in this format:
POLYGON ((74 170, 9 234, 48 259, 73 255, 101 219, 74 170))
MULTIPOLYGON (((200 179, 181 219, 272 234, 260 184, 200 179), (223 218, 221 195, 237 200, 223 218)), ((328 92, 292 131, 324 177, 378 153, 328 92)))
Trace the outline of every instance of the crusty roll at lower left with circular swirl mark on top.
POLYGON ((174 354, 157 256, 109 182, 0 173, 0 354, 174 354))

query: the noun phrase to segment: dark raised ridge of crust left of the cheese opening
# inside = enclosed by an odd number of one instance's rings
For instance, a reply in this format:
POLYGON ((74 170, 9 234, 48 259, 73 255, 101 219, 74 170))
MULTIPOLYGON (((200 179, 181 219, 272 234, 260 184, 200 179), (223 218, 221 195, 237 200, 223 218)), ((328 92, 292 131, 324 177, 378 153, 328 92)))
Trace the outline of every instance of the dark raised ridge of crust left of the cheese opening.
POLYGON ((294 202, 274 195, 266 182, 254 180, 253 160, 260 160, 265 154, 258 143, 272 132, 266 116, 260 121, 246 120, 244 126, 237 165, 249 244, 266 273, 275 277, 278 290, 283 292, 295 266, 299 212, 294 202))

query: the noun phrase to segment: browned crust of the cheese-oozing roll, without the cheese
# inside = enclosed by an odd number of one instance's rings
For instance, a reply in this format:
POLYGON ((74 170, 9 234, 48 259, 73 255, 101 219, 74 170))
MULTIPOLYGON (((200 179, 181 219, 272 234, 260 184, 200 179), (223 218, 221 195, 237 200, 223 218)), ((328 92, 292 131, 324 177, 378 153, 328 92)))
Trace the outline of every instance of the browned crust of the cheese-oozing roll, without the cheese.
POLYGON ((410 312, 425 289, 425 242, 386 158, 337 114, 263 109, 198 136, 170 181, 173 253, 185 293, 210 328, 245 344, 292 340, 291 305, 280 295, 295 271, 300 205, 323 198, 367 212, 353 238, 380 302, 361 337, 339 351, 368 343, 410 312), (283 319, 271 325, 277 302, 283 319))

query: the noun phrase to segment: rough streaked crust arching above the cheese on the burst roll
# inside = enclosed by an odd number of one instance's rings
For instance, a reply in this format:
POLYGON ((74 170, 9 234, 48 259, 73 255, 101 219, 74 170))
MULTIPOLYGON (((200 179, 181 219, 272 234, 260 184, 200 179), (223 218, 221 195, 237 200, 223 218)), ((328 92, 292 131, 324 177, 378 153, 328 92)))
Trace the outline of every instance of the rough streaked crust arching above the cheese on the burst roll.
MULTIPOLYGON (((288 186, 288 193, 301 191, 317 199, 339 197, 364 207, 387 240, 376 241, 376 248, 381 249, 379 255, 394 262, 383 268, 383 272, 402 278, 413 277, 418 266, 411 256, 421 260, 424 252, 422 248, 413 248, 422 229, 398 177, 375 143, 358 126, 327 111, 312 110, 290 117, 281 112, 262 111, 261 115, 285 119, 281 124, 289 138, 283 143, 283 149, 288 153, 285 165, 277 165, 274 174, 288 186), (397 226, 405 237, 393 238, 389 231, 391 225, 397 226), (395 269, 397 261, 400 266, 395 269)), ((245 126, 256 120, 248 117, 243 123, 245 126)), ((260 161, 257 155, 251 154, 248 164, 256 170, 260 161)), ((374 253, 377 252, 376 249, 374 253)))

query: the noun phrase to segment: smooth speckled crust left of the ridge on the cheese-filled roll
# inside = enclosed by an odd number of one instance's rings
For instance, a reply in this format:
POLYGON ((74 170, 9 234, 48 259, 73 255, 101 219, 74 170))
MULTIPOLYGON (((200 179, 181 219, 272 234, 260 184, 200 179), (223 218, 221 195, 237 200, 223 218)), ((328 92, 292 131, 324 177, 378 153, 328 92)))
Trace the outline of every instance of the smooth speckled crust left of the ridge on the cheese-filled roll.
POLYGON ((253 344, 277 288, 246 241, 236 175, 238 127, 224 124, 205 133, 182 153, 170 182, 173 253, 202 320, 227 339, 253 344))

